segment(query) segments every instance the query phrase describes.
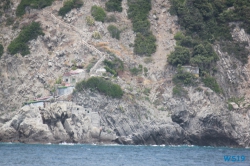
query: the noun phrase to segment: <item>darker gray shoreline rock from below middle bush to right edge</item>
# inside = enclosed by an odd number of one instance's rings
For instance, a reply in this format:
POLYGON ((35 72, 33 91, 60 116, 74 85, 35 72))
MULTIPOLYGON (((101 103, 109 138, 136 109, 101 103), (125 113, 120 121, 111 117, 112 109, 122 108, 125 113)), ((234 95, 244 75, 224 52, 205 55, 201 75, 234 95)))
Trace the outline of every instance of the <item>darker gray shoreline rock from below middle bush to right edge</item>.
POLYGON ((145 103, 103 98, 87 91, 76 95, 74 101, 86 109, 98 110, 103 129, 115 132, 115 142, 120 144, 249 146, 249 116, 216 106, 218 98, 214 93, 210 99, 199 99, 201 95, 197 94, 190 96, 193 101, 172 105, 175 108, 171 118, 161 118, 158 110, 145 107, 145 103), (211 105, 201 110, 191 107, 202 101, 210 101, 211 105))

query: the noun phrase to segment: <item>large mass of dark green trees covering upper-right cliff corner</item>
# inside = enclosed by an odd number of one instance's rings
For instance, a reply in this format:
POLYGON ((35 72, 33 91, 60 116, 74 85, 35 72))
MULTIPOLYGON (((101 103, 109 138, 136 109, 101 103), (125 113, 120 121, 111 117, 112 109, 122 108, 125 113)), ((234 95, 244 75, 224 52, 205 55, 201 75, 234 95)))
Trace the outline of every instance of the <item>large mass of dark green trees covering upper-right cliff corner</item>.
MULTIPOLYGON (((243 64, 248 61, 246 43, 233 41, 229 22, 241 22, 241 27, 250 32, 250 2, 247 0, 171 0, 170 13, 178 16, 183 33, 177 33, 177 46, 168 56, 174 66, 193 65, 200 68, 205 86, 221 93, 212 70, 218 56, 212 44, 220 44, 223 51, 235 56, 243 64)), ((232 26, 231 28, 234 28, 232 26)))

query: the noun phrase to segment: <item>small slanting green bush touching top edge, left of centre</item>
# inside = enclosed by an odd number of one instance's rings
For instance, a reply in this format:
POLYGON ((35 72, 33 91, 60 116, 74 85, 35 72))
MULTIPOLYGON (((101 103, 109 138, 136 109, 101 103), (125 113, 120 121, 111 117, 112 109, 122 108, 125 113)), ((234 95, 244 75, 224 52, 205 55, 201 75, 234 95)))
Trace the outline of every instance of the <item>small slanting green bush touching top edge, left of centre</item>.
POLYGON ((82 5, 82 0, 67 0, 63 3, 63 7, 59 9, 58 14, 64 17, 71 9, 80 8, 82 5))

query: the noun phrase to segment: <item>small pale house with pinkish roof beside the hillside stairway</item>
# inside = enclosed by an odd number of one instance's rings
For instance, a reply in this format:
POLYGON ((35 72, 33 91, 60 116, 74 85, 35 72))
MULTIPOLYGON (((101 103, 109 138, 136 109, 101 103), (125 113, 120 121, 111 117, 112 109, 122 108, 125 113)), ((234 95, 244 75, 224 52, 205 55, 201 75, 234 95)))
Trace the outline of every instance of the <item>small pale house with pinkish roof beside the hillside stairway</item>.
POLYGON ((63 75, 63 83, 75 86, 75 84, 85 78, 85 71, 83 69, 71 70, 63 75))

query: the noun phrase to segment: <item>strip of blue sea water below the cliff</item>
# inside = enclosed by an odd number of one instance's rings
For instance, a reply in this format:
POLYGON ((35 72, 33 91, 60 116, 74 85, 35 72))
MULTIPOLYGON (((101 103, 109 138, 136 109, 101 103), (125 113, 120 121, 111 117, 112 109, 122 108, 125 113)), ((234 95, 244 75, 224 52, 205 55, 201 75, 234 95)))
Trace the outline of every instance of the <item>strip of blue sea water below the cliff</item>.
POLYGON ((197 146, 0 144, 0 166, 250 166, 250 149, 197 146), (224 161, 224 156, 240 161, 224 161), (244 156, 237 158, 237 156, 244 156))

